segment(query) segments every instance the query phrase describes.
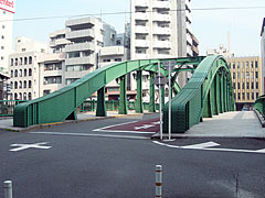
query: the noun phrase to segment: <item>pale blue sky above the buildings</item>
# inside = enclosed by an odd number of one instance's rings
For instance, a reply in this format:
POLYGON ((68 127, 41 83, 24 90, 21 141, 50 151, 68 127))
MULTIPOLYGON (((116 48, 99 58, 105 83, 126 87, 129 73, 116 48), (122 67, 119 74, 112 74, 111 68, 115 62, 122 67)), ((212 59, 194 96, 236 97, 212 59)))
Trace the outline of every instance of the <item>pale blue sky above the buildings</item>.
MULTIPOLYGON (((129 22, 129 14, 105 14, 129 12, 129 0, 17 0, 13 36, 26 36, 40 42, 49 42, 49 34, 64 28, 65 20, 73 15, 94 14, 113 25, 118 32, 129 22), (102 13, 102 14, 100 14, 102 13), (35 19, 33 18, 50 18, 35 19), (23 20, 31 19, 31 20, 23 20)), ((200 42, 200 53, 208 48, 227 45, 230 32, 231 52, 235 56, 261 54, 261 30, 265 18, 265 0, 192 0, 192 30, 200 42), (245 8, 261 9, 220 9, 197 10, 204 8, 245 8)), ((0 19, 1 20, 1 19, 0 19)))

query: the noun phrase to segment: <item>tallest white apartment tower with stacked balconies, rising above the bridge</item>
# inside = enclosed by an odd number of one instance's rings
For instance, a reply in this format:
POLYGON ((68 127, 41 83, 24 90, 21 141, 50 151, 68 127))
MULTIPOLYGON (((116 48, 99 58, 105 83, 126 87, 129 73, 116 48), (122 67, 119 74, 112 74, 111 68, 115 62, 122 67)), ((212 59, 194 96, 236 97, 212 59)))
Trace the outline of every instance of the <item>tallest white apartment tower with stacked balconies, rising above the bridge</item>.
POLYGON ((193 56, 190 0, 131 0, 131 59, 193 56))

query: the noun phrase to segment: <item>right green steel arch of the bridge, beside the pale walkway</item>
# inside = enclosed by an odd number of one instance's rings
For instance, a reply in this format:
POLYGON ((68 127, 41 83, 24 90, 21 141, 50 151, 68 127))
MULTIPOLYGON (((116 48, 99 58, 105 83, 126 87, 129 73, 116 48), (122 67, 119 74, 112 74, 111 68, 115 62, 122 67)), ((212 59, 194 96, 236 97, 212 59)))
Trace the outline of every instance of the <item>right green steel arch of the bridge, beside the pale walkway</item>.
MULTIPOLYGON (((230 68, 223 56, 204 58, 194 74, 172 99, 172 133, 184 133, 192 125, 235 110, 230 68)), ((163 131, 168 132, 168 103, 163 108, 163 131)))

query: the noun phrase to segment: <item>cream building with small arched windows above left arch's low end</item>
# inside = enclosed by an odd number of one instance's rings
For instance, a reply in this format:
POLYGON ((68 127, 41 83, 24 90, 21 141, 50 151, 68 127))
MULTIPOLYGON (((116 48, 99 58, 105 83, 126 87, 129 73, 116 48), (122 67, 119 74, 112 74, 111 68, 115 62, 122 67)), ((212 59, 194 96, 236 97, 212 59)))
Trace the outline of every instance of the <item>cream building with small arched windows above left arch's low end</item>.
POLYGON ((32 100, 63 87, 63 77, 60 77, 64 68, 63 56, 49 54, 46 44, 28 37, 15 38, 14 48, 9 56, 9 99, 32 100))

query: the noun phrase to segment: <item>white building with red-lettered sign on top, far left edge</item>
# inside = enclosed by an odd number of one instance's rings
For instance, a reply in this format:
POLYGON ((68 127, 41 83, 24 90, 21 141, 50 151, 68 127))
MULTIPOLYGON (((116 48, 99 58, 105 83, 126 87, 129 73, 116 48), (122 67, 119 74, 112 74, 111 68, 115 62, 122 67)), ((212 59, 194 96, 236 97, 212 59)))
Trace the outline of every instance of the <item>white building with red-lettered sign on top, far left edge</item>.
POLYGON ((12 53, 12 31, 15 1, 0 2, 0 72, 8 73, 9 55, 12 53))

